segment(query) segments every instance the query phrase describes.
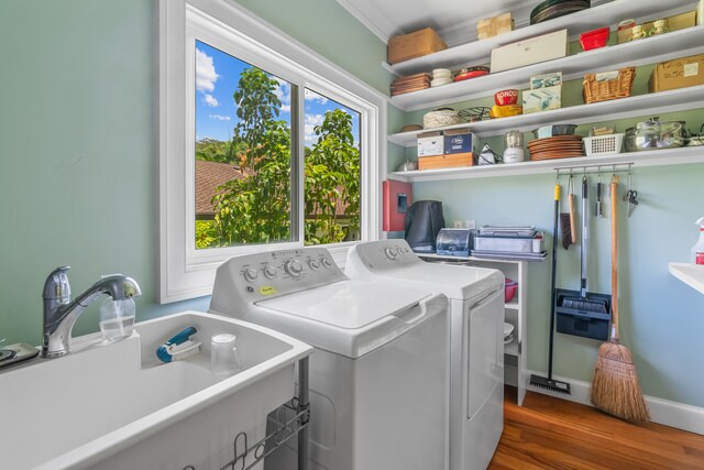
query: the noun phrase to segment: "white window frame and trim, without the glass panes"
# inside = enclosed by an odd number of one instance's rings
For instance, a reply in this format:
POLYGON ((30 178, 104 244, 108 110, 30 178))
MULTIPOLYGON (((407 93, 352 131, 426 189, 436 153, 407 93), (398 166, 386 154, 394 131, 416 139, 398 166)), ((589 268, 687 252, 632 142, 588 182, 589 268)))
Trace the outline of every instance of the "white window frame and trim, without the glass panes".
MULTIPOLYGON (((195 40, 297 85, 298 165, 304 157, 302 89, 360 112, 361 238, 381 236, 381 182, 386 174, 386 98, 296 40, 227 0, 160 0, 160 302, 210 295, 220 263, 233 255, 302 247, 299 240, 220 249, 195 248, 195 40), (233 47, 232 45, 237 46, 233 47)), ((295 96, 292 98, 296 98, 295 96)), ((292 122, 294 121, 292 116, 292 122)), ((302 177, 298 187, 302 195, 302 177)), ((298 205, 302 206, 300 198, 298 205)), ((338 264, 356 242, 326 245, 338 264)))

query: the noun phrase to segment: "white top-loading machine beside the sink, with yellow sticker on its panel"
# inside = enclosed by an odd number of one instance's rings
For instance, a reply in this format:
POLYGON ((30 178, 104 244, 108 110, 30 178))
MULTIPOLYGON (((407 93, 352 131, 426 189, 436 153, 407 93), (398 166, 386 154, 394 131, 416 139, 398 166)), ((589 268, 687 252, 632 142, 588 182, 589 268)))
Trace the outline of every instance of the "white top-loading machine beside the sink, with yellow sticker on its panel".
MULTIPOLYGON (((350 280, 319 247, 235 256, 211 313, 285 332, 309 360, 311 470, 447 469, 448 299, 350 280)), ((240 351, 244 354, 245 351, 240 351)), ((265 459, 296 468, 295 448, 265 459)))

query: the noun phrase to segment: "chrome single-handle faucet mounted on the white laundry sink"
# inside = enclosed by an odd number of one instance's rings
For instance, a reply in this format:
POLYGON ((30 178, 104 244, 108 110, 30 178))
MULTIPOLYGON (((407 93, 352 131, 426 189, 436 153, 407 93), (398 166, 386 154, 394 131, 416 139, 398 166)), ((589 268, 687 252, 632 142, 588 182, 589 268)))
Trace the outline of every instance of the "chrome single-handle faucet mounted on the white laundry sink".
POLYGON ((113 300, 122 300, 142 294, 140 286, 122 274, 101 277, 75 299, 70 299, 70 285, 66 271, 69 266, 55 269, 44 283, 44 337, 43 358, 59 358, 69 352, 70 332, 84 309, 98 297, 107 294, 113 300))

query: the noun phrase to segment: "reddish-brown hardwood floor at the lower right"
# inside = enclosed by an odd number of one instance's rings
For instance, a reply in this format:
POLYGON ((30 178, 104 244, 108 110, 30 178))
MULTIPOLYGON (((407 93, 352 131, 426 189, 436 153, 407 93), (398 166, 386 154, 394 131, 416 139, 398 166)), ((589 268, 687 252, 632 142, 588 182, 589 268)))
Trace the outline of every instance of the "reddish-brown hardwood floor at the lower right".
POLYGON ((504 469, 704 469, 704 436, 631 425, 591 406, 506 387, 504 434, 488 467, 504 469))

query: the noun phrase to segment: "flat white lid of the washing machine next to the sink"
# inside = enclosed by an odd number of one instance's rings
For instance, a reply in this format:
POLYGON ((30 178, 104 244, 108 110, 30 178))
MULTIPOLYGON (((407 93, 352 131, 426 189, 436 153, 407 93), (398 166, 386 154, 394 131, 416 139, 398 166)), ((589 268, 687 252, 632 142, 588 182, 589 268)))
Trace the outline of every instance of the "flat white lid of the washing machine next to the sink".
POLYGON ((356 329, 420 303, 429 292, 367 281, 341 281, 258 302, 256 305, 333 327, 356 329))

